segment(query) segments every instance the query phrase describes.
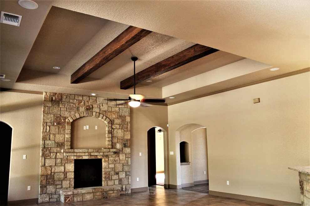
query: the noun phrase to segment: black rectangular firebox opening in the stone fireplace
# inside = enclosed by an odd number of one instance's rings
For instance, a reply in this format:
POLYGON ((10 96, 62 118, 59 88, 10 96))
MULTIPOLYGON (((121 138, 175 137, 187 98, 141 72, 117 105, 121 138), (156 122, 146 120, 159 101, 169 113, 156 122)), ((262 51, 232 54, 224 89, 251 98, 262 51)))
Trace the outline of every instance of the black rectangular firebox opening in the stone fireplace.
POLYGON ((102 186, 102 159, 74 160, 74 189, 102 186))

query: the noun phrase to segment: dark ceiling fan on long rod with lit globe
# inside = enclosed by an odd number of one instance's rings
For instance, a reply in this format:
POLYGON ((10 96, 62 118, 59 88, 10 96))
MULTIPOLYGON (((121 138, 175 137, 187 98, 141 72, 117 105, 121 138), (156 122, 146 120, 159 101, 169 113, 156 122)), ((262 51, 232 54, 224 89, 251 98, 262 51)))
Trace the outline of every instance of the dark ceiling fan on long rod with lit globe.
POLYGON ((138 107, 138 106, 152 106, 152 103, 164 103, 165 99, 145 99, 144 95, 142 94, 136 94, 136 61, 138 60, 138 57, 131 57, 131 60, 133 61, 133 94, 130 94, 128 99, 116 99, 116 101, 129 101, 129 106, 131 107, 138 107))

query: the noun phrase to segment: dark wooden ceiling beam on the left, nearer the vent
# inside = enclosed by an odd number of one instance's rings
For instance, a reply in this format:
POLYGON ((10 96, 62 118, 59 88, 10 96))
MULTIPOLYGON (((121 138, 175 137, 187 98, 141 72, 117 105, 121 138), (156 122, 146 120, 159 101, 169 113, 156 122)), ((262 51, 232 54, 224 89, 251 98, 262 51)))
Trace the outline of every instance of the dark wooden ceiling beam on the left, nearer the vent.
POLYGON ((71 84, 77 84, 86 76, 90 75, 108 61, 125 51, 133 44, 150 34, 151 31, 138 27, 129 26, 124 32, 118 35, 105 47, 103 47, 95 56, 90 58, 78 70, 71 75, 71 84))

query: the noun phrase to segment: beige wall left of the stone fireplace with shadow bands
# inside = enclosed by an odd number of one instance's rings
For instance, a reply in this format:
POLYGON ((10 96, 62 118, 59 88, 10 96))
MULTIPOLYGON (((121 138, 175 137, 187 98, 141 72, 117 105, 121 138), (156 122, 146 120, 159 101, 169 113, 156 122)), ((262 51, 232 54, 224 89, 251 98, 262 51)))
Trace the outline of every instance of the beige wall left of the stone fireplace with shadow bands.
POLYGON ((0 99, 0 120, 13 128, 8 201, 38 198, 43 95, 1 91, 0 99))

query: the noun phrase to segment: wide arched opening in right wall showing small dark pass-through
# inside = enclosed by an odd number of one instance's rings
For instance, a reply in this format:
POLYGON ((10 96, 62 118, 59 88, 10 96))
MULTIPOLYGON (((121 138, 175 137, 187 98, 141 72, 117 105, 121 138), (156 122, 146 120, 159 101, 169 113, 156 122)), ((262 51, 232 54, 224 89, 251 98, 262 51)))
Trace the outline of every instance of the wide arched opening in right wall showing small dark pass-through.
MULTIPOLYGON (((188 124, 176 130, 176 161, 178 188, 207 184, 208 149, 206 128, 188 124)), ((209 186, 207 187, 209 192, 209 186)))

